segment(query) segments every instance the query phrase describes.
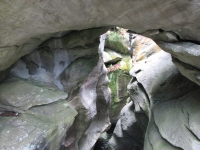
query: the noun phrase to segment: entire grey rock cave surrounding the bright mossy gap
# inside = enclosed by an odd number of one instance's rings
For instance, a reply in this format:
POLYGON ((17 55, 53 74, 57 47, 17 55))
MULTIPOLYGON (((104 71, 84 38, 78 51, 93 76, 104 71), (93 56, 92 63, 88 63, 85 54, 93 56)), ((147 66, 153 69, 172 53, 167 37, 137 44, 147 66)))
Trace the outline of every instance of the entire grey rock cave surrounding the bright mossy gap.
POLYGON ((139 114, 149 123, 145 129, 144 119, 140 134, 129 138, 140 139, 130 148, 141 149, 144 140, 145 150, 198 150, 199 5, 198 0, 1 1, 0 148, 94 147, 110 125, 98 39, 120 26, 154 39, 178 70, 164 52, 133 68, 128 85, 133 102, 122 111, 116 137, 139 129, 139 114), (129 108, 132 112, 125 112, 129 108), (129 114, 133 120, 126 124, 129 114))

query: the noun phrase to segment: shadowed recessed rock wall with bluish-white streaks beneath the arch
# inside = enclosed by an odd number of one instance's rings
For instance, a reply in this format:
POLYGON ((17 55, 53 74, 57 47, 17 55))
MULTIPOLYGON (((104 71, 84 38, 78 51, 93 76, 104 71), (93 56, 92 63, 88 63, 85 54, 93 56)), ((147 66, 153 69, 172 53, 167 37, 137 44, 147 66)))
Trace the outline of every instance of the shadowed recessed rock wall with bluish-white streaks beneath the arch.
POLYGON ((106 30, 96 28, 74 31, 62 38, 49 39, 31 54, 18 60, 10 76, 32 78, 71 92, 95 67, 99 35, 106 30))

